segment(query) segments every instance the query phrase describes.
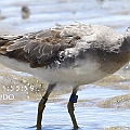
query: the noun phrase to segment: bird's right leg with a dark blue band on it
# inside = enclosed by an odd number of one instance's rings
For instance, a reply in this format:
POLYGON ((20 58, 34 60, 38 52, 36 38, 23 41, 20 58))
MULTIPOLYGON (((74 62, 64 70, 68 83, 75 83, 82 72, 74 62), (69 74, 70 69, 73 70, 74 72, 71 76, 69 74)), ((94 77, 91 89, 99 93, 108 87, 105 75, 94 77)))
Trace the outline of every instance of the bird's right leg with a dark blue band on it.
POLYGON ((74 125, 74 130, 78 130, 78 125, 74 114, 74 110, 75 110, 74 103, 77 103, 77 100, 78 100, 78 95, 76 95, 77 91, 78 91, 78 87, 75 87, 70 95, 69 102, 67 104, 68 113, 70 115, 70 118, 74 125))

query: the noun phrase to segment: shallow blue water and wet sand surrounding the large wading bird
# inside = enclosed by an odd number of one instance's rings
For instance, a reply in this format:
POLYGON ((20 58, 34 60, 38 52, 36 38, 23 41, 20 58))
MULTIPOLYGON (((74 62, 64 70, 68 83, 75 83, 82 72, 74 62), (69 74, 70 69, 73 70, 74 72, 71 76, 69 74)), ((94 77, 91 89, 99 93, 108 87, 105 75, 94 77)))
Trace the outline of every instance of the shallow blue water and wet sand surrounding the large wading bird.
MULTIPOLYGON (((54 26, 55 23, 72 24, 75 21, 107 25, 125 34, 130 25, 128 0, 4 0, 0 2, 0 9, 3 17, 0 20, 0 34, 24 34, 54 26), (31 12, 27 20, 21 17, 23 4, 28 5, 31 12)), ((0 130, 35 130, 37 105, 43 91, 43 82, 2 66, 0 130)), ((68 92, 51 95, 42 130, 73 129, 66 108, 68 92)), ((130 130, 129 93, 129 69, 81 87, 75 110, 80 130, 130 130)))

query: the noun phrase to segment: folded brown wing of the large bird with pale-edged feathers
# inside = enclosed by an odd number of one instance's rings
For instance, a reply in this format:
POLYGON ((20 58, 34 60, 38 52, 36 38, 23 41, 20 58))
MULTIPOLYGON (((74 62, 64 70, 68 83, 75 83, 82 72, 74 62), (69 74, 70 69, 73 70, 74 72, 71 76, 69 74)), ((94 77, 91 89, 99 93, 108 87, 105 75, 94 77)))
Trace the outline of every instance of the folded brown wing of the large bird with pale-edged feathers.
MULTIPOLYGON (((76 25, 74 25, 76 26, 76 25)), ((31 67, 51 64, 58 58, 58 53, 74 48, 80 37, 74 34, 72 26, 56 25, 54 28, 24 36, 0 37, 0 53, 9 57, 28 62, 31 67)))

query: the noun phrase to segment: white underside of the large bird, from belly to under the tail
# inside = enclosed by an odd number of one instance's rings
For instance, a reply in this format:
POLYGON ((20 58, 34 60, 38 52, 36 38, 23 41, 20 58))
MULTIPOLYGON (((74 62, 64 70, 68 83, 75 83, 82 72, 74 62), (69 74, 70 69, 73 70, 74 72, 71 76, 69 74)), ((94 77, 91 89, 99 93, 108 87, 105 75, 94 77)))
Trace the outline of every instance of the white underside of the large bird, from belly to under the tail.
POLYGON ((44 67, 30 68, 28 63, 0 55, 0 63, 18 72, 31 74, 48 83, 64 86, 81 86, 94 82, 108 76, 99 69, 99 64, 92 61, 82 61, 78 67, 50 69, 44 67))

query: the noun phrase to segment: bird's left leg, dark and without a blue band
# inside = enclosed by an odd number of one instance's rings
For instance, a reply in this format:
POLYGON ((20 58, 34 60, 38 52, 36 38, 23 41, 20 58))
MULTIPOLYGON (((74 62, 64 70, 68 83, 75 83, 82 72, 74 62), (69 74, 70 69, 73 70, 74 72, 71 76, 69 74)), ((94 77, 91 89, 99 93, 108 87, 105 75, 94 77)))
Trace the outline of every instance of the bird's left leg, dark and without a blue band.
POLYGON ((48 89, 46 91, 46 94, 42 96, 42 99, 39 102, 38 115, 37 115, 37 130, 41 130, 42 113, 43 113, 43 109, 46 107, 46 103, 48 101, 48 98, 49 98, 50 93, 53 91, 54 87, 55 87, 55 83, 49 84, 48 89))

